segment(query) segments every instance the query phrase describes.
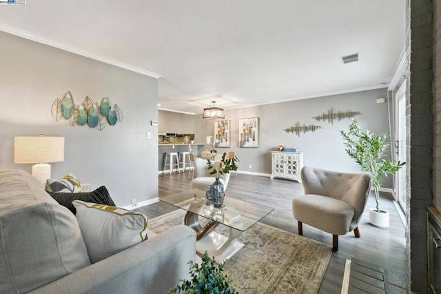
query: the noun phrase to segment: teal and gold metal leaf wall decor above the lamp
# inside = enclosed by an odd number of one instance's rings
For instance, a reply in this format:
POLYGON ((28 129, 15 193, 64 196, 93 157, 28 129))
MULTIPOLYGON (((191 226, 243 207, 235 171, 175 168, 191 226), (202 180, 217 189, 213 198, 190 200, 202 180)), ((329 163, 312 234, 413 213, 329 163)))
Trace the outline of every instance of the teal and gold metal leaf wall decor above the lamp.
POLYGON ((110 100, 104 97, 98 106, 90 97, 85 97, 83 104, 74 104, 74 97, 70 91, 66 92, 63 99, 57 99, 52 104, 51 114, 55 121, 66 119, 71 126, 84 126, 103 130, 106 121, 114 126, 117 121, 123 121, 123 110, 114 104, 110 106, 110 100))

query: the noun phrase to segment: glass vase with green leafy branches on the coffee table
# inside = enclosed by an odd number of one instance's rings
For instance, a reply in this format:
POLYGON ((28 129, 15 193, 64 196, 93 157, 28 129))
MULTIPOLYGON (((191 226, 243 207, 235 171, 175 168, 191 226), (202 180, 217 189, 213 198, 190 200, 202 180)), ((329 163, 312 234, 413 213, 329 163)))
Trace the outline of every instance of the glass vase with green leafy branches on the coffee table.
POLYGON ((236 162, 238 159, 233 154, 234 153, 232 153, 232 156, 227 156, 227 153, 224 152, 220 161, 215 161, 216 164, 214 165, 212 161, 207 160, 208 169, 211 170, 209 174, 214 175, 216 180, 210 186, 209 190, 207 190, 206 196, 215 207, 221 207, 223 205, 224 188, 223 184, 219 181, 220 175, 226 175, 231 170, 237 170, 236 162))

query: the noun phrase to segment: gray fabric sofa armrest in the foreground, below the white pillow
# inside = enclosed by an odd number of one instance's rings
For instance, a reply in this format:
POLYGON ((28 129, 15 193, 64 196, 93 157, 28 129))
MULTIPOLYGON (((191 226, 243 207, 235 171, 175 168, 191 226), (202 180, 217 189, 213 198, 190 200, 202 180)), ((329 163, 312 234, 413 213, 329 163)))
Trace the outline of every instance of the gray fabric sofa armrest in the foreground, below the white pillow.
POLYGON ((175 226, 31 293, 167 293, 195 257, 196 233, 175 226))

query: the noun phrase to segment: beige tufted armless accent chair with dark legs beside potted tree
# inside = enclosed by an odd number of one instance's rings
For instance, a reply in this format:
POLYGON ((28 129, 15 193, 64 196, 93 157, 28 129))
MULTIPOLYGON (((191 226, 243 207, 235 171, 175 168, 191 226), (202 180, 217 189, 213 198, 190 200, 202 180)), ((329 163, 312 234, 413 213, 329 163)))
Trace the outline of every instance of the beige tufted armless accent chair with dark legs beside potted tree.
POLYGON ((292 201, 292 212, 302 235, 302 223, 332 234, 332 249, 338 251, 338 235, 353 231, 360 237, 358 223, 371 189, 369 173, 340 173, 305 166, 301 170, 305 195, 292 201))

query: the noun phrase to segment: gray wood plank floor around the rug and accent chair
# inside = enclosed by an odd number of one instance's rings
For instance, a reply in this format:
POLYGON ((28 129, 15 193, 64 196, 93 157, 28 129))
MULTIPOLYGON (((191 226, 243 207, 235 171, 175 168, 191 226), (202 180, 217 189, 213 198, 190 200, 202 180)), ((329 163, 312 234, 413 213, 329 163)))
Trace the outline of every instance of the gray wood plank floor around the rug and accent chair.
MULTIPOLYGON (((159 197, 178 193, 189 188, 188 173, 160 175, 159 197)), ((291 233, 298 233, 297 222, 292 215, 291 202, 298 195, 302 195, 302 184, 287 179, 269 179, 254 175, 238 174, 229 179, 227 197, 243 199, 271 206, 274 211, 261 222, 281 228, 291 233)), ((392 202, 391 195, 380 195, 380 206, 390 214, 389 228, 376 228, 369 224, 369 208, 375 206, 375 198, 371 193, 365 212, 360 222, 360 238, 354 237, 353 232, 339 236, 338 252, 333 253, 319 293, 340 293, 347 258, 356 257, 371 264, 384 266, 400 273, 406 271, 406 240, 404 226, 392 202)), ((153 218, 172 210, 173 206, 158 202, 138 208, 147 217, 153 218)), ((320 242, 332 244, 332 235, 316 228, 303 224, 303 236, 320 242)))

